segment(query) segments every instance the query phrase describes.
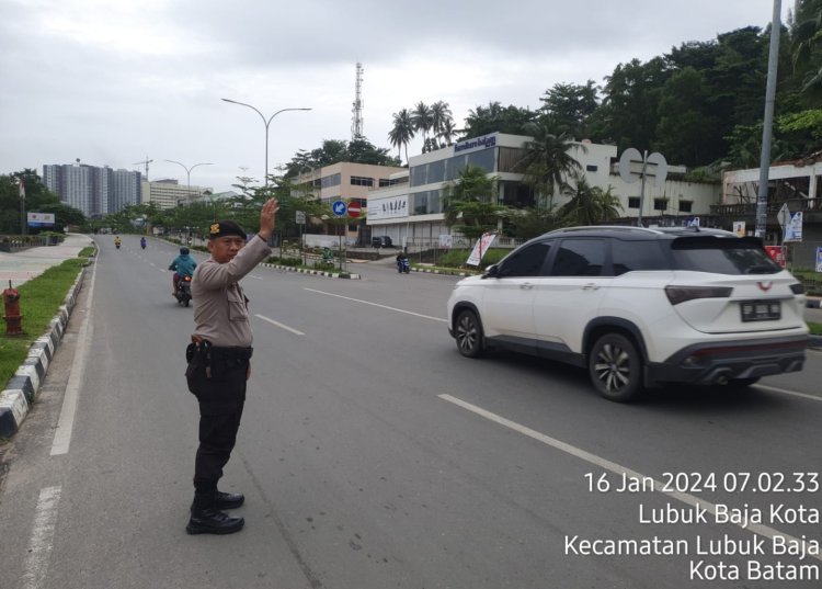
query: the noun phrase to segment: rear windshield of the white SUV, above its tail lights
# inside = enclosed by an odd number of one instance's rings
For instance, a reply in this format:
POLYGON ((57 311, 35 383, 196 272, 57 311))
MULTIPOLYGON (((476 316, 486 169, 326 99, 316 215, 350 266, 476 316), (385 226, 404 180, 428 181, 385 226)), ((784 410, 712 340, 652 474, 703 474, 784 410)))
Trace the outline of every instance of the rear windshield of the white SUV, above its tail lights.
POLYGON ((715 274, 776 274, 781 271, 758 240, 681 237, 671 242, 674 270, 715 274))

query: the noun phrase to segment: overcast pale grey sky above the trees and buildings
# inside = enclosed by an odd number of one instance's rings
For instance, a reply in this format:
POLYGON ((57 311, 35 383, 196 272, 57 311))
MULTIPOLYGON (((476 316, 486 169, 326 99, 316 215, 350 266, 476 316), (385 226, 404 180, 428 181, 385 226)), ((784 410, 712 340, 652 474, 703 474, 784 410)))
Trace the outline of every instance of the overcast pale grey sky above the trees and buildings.
MULTIPOLYGON (((323 139, 351 139, 355 64, 364 134, 397 150, 391 115, 416 102, 537 109, 688 41, 766 26, 773 0, 0 0, 0 173, 110 166, 230 190, 323 139), (243 170, 247 168, 247 170, 243 170)), ((783 20, 794 8, 783 1, 783 20)), ((412 144, 409 154, 419 154, 412 144)), ((404 155, 403 155, 404 157, 404 155)))

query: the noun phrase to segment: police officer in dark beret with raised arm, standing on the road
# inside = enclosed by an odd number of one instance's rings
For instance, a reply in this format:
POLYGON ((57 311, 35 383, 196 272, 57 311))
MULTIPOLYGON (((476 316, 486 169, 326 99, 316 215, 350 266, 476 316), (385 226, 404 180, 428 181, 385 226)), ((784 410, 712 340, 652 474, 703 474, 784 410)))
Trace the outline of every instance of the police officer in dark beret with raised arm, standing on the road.
POLYGON ((231 220, 209 227, 210 258, 194 271, 194 335, 186 350, 186 381, 199 404, 199 446, 194 464, 194 501, 185 530, 190 534, 231 534, 244 520, 225 513, 244 497, 222 492, 217 482, 228 463, 246 401, 250 375, 251 326, 248 298, 239 281, 271 256, 269 238, 279 209, 267 201, 260 231, 246 242, 246 231, 231 220))

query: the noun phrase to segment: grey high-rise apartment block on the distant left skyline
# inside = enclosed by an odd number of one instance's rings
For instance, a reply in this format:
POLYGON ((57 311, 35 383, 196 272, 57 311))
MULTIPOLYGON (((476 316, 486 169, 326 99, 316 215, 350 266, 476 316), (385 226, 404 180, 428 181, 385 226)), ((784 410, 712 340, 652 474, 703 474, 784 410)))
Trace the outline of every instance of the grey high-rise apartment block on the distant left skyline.
POLYGON ((43 182, 60 202, 87 217, 116 213, 142 202, 140 172, 85 163, 45 165, 43 182))

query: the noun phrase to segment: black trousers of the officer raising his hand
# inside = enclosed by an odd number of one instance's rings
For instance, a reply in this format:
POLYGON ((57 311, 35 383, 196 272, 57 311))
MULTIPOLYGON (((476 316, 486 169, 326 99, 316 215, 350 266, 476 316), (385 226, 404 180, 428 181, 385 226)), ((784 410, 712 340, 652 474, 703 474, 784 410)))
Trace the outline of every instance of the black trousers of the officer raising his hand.
POLYGON ((194 462, 194 501, 209 507, 231 457, 246 404, 248 359, 198 365, 186 374, 189 389, 199 404, 199 446, 194 462))

